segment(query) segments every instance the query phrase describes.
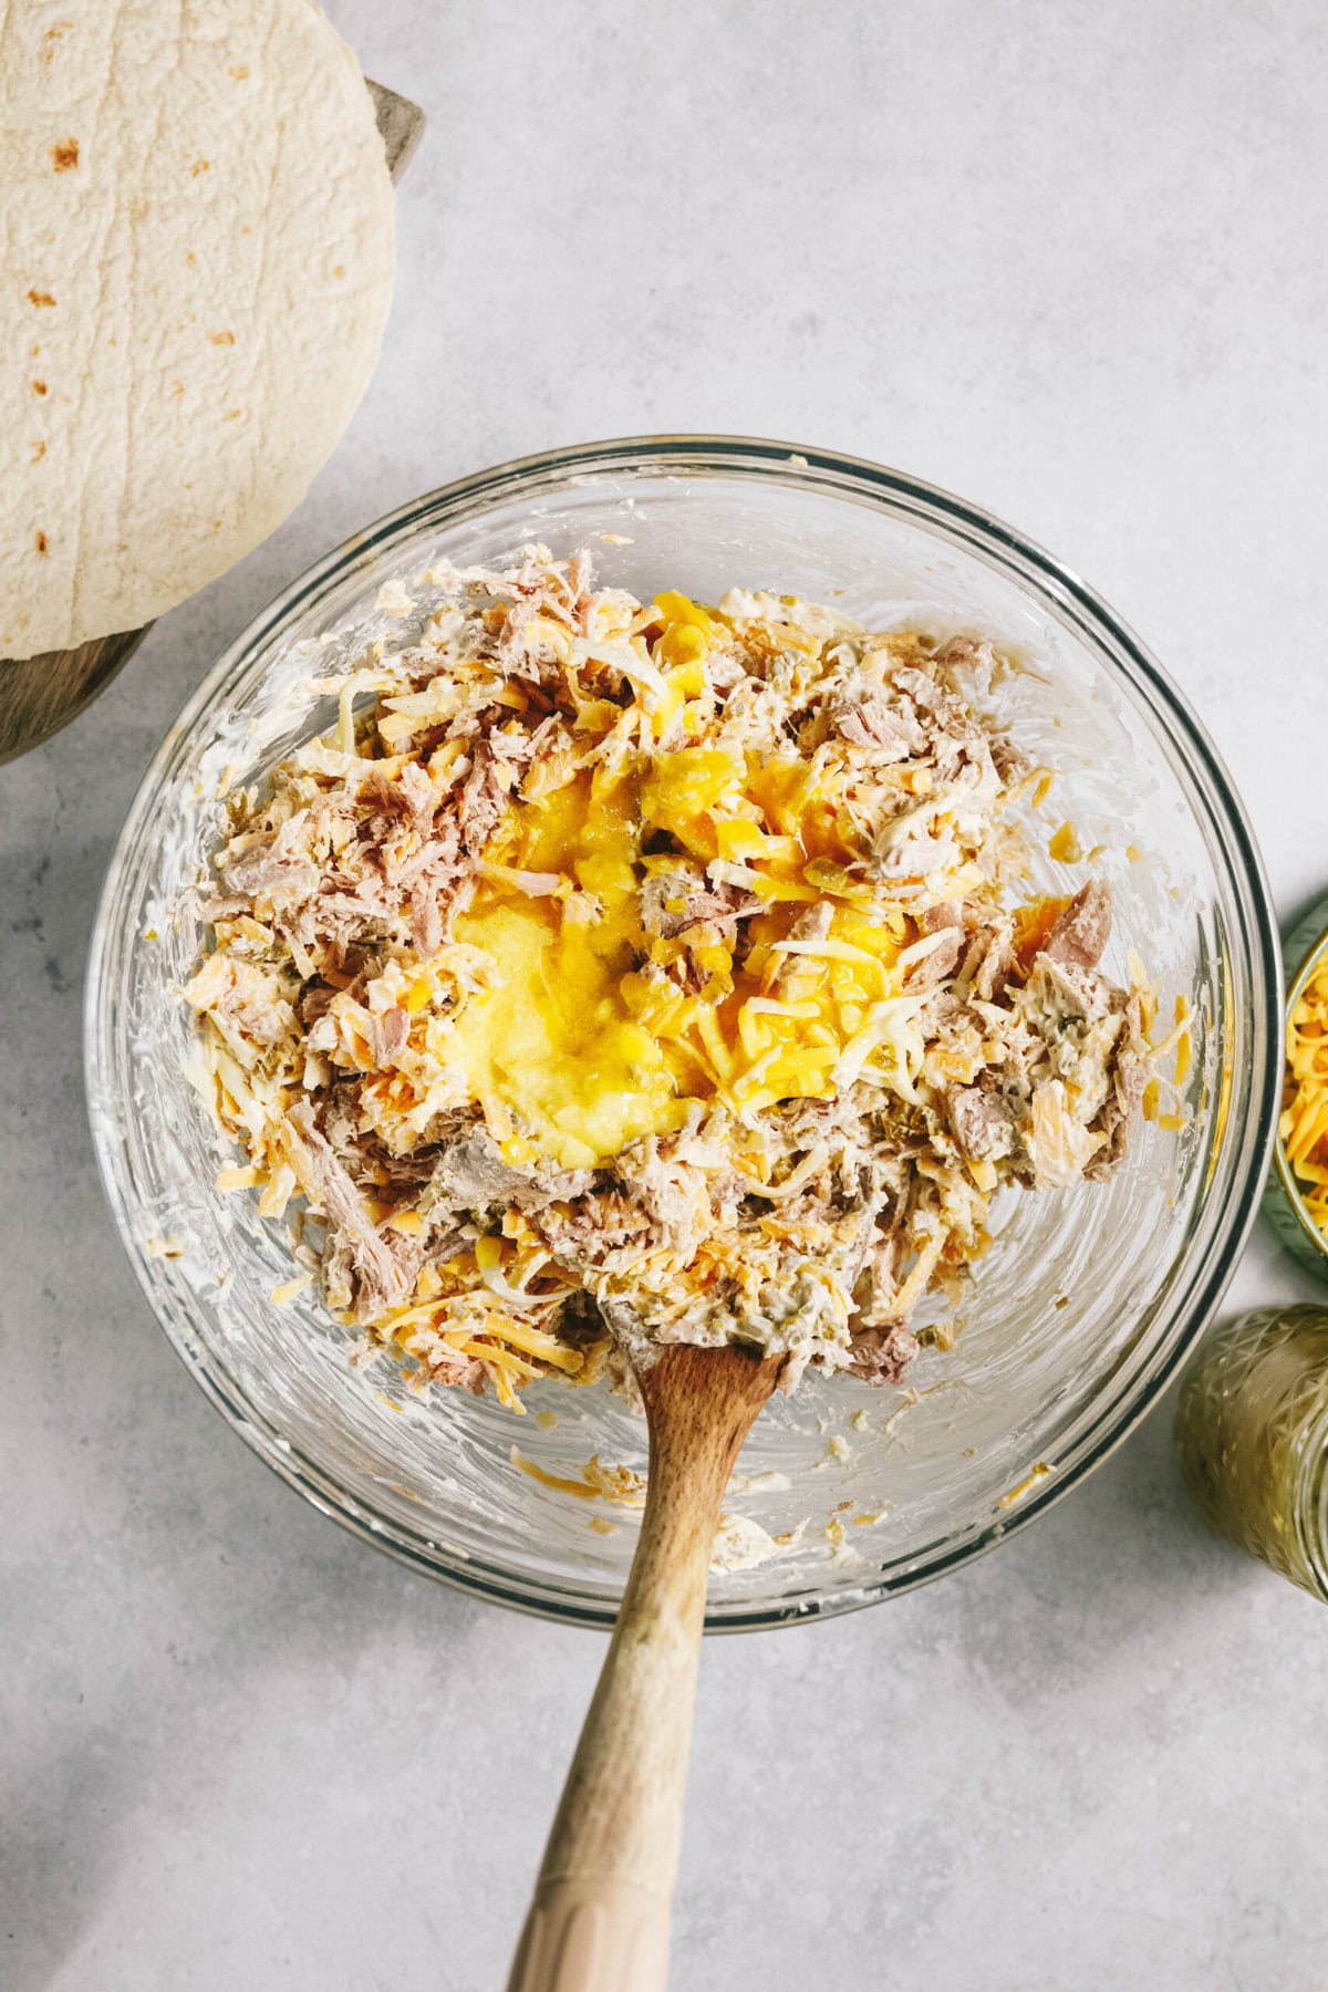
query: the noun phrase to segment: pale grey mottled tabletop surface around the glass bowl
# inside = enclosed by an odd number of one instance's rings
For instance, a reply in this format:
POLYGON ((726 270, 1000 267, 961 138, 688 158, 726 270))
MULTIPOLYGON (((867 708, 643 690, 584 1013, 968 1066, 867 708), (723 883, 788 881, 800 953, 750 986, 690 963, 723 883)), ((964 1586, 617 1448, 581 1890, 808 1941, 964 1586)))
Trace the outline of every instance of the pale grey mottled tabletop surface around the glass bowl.
MULTIPOLYGON (((307 562, 559 442, 880 458, 1093 582, 1215 733, 1280 914, 1328 886, 1316 0, 334 18, 430 114, 374 386, 303 510, 0 773, 14 1992, 496 1988, 599 1665, 279 1486, 147 1319, 96 1183, 80 990, 113 835, 307 562)), ((1260 1231, 1232 1303, 1312 1291, 1260 1231)), ((1326 1689, 1328 1614, 1203 1532, 1159 1408, 970 1572, 707 1647, 675 1984, 1318 1992, 1326 1689)))

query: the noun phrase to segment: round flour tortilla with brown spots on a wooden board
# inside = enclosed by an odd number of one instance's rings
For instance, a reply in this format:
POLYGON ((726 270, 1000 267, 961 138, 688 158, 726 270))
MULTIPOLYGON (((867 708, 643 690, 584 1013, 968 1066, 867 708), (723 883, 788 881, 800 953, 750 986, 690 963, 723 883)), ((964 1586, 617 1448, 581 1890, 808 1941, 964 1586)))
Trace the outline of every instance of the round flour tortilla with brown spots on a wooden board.
POLYGON ((135 629, 368 384, 392 183, 309 0, 0 0, 0 657, 135 629))

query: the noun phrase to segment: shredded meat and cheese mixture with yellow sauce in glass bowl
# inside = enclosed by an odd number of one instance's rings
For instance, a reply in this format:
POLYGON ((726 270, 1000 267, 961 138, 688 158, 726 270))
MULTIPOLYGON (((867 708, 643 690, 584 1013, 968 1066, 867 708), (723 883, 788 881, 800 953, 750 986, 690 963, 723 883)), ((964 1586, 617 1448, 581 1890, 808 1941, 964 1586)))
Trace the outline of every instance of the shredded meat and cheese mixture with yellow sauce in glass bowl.
POLYGON ((444 582, 225 805, 187 988, 221 1187, 422 1388, 520 1408, 723 1339, 896 1382, 994 1195, 1111 1171, 1155 1056, 1107 886, 1027 896, 1017 661, 585 554, 444 582))

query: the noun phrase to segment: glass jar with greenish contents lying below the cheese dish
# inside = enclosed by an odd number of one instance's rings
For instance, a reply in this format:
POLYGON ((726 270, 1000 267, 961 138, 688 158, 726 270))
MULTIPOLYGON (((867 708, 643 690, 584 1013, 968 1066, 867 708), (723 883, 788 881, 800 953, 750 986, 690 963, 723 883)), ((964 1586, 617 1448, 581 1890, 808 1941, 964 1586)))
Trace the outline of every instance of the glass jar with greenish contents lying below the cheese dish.
POLYGON ((1328 1604, 1328 1309, 1266 1307, 1211 1337, 1177 1446, 1213 1528, 1328 1604))

